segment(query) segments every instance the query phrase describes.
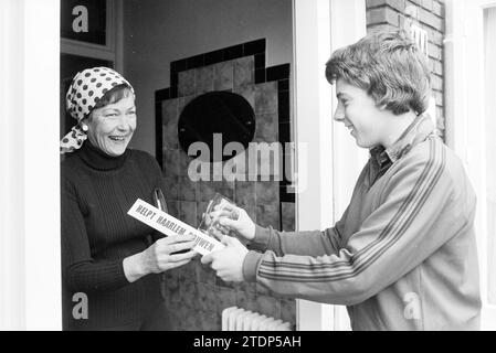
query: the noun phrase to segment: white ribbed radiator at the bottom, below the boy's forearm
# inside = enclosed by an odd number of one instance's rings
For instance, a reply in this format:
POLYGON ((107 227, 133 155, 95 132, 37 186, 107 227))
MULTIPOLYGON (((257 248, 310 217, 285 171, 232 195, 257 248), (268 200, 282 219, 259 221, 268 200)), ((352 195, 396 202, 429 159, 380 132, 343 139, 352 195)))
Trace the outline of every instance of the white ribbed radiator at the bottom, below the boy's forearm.
POLYGON ((289 322, 238 307, 222 311, 222 331, 292 331, 289 322))

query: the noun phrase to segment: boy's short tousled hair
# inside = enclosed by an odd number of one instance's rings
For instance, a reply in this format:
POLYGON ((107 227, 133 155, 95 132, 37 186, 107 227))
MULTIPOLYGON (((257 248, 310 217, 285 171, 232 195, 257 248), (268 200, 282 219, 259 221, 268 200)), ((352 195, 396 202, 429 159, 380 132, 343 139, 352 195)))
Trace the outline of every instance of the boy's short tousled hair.
POLYGON ((373 31, 335 51, 326 64, 330 84, 342 78, 394 115, 428 109, 430 75, 426 56, 404 30, 373 31))

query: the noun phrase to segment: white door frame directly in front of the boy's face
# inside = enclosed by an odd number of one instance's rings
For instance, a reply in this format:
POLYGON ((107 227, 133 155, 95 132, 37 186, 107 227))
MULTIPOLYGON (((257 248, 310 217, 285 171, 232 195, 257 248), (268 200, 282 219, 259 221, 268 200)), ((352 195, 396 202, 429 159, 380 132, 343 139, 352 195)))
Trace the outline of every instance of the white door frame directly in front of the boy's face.
MULTIPOLYGON (((334 127, 337 106, 325 64, 336 49, 366 34, 365 0, 293 0, 297 229, 333 226, 345 211, 367 152, 344 128, 334 127), (344 30, 346 29, 346 30, 344 30), (342 153, 346 151, 346 153, 342 153)), ((342 307, 297 300, 297 329, 348 329, 342 307)))

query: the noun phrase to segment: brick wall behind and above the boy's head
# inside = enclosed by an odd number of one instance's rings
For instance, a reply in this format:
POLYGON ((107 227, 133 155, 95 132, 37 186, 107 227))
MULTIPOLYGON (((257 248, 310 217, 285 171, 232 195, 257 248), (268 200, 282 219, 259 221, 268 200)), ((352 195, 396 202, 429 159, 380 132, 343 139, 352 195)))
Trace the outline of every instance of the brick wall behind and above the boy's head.
POLYGON ((441 0, 367 0, 367 31, 378 26, 407 29, 414 23, 429 35, 428 53, 431 87, 436 104, 436 126, 444 137, 444 1, 441 0))

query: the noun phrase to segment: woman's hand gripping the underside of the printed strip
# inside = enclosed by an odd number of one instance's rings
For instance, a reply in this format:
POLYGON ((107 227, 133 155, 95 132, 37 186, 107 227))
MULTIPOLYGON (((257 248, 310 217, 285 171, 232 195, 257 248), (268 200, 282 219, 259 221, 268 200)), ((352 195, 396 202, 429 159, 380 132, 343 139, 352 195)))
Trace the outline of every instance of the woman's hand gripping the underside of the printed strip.
POLYGON ((188 264, 197 252, 194 235, 173 235, 160 238, 143 253, 126 257, 123 261, 124 272, 129 282, 148 275, 160 274, 171 268, 188 264), (173 254, 180 250, 189 250, 183 254, 173 254))

